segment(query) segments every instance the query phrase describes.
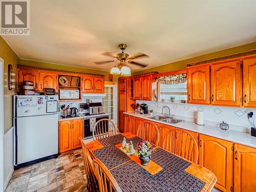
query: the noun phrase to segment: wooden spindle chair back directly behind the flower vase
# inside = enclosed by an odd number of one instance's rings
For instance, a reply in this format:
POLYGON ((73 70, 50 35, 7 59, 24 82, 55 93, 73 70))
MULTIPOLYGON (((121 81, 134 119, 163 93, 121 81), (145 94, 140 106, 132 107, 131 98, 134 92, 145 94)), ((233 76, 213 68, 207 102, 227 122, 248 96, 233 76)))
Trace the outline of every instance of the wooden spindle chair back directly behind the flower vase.
POLYGON ((152 121, 146 120, 143 123, 141 123, 137 131, 137 136, 155 145, 158 145, 159 131, 157 125, 152 121))

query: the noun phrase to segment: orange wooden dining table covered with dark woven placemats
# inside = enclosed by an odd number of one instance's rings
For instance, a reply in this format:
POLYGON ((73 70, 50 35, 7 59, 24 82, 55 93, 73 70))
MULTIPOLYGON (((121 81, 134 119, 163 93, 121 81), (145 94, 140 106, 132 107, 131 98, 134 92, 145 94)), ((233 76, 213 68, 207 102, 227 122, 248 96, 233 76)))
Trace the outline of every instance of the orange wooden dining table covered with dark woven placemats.
POLYGON ((90 155, 98 158, 113 175, 123 192, 130 191, 211 191, 217 178, 207 168, 154 146, 150 163, 141 165, 135 154, 122 150, 122 141, 134 147, 143 140, 133 133, 120 133, 87 143, 90 155))

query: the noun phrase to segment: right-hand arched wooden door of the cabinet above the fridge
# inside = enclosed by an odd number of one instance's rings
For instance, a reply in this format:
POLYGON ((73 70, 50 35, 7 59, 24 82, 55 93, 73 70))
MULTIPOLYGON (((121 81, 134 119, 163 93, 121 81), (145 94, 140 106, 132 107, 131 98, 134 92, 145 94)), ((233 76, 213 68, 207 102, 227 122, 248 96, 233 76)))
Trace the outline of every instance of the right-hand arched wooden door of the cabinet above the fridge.
POLYGON ((40 91, 44 88, 53 88, 57 92, 57 75, 55 73, 40 72, 40 91))

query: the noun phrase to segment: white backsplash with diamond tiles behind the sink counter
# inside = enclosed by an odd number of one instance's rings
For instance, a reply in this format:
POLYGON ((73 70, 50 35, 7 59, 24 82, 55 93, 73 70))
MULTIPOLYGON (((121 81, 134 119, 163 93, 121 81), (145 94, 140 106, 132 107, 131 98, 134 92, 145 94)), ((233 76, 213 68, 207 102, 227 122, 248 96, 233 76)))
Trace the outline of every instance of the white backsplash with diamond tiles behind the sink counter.
MULTIPOLYGON (((226 106, 197 105, 197 104, 187 104, 187 103, 186 104, 167 103, 167 102, 143 101, 143 100, 136 100, 136 102, 139 104, 146 103, 148 104, 148 110, 153 109, 154 112, 159 112, 159 113, 162 112, 163 106, 167 105, 171 110, 171 114, 188 117, 188 118, 196 118, 196 112, 203 111, 204 120, 214 121, 218 123, 225 121, 229 125, 231 125, 231 127, 232 125, 242 126, 242 127, 251 127, 247 120, 245 111, 251 111, 253 112, 254 116, 256 115, 256 109, 231 108, 226 106)), ((164 113, 168 113, 168 109, 165 108, 164 113)))

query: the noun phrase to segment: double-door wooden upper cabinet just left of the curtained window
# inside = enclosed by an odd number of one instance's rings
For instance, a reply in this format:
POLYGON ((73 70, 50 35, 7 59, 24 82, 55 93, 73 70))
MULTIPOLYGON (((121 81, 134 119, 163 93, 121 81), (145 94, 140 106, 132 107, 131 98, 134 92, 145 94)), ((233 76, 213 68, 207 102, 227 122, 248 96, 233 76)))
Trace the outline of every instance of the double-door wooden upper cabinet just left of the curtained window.
POLYGON ((133 99, 151 100, 152 76, 146 75, 133 79, 133 99))

